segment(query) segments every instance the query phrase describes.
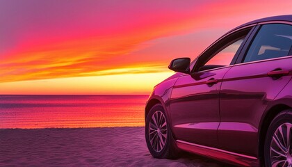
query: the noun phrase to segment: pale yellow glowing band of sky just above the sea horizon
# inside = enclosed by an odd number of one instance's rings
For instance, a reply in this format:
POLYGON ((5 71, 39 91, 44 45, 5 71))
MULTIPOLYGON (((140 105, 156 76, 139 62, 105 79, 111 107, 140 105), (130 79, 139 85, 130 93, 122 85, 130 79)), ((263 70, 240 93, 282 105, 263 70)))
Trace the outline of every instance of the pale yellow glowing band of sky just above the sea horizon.
POLYGON ((147 95, 173 72, 115 74, 0 83, 1 95, 147 95))

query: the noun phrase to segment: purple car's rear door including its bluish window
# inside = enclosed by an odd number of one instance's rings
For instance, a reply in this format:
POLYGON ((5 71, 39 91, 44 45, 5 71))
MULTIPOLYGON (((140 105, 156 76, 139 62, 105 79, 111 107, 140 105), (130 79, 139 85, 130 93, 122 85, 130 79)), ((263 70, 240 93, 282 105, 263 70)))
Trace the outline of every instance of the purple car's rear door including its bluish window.
POLYGON ((259 122, 291 79, 292 26, 264 24, 245 45, 220 90, 220 148, 258 156, 259 122))

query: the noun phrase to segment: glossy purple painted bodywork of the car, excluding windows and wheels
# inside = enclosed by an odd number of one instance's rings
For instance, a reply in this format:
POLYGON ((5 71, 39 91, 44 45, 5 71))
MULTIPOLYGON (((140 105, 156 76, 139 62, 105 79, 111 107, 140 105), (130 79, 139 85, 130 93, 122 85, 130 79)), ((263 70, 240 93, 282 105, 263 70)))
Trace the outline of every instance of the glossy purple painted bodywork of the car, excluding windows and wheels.
MULTIPOLYGON (((238 26, 222 38, 246 27, 256 29, 261 24, 291 22, 292 15, 259 19, 238 26)), ((245 41, 243 51, 254 34, 245 41)), ((231 164, 259 166, 260 139, 267 129, 268 116, 275 115, 272 112, 277 106, 292 108, 292 55, 241 63, 242 55, 238 54, 226 67, 193 74, 177 72, 165 79, 149 96, 145 117, 159 102, 182 150, 231 164), (273 70, 289 73, 279 78, 268 76, 273 70), (207 85, 209 79, 218 82, 207 85)))

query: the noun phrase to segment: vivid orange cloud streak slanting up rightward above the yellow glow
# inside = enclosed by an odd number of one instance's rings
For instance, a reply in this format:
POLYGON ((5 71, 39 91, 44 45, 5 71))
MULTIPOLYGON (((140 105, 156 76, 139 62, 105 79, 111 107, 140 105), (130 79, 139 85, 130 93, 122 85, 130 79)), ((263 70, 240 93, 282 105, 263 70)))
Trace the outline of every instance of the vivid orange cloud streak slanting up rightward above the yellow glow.
MULTIPOLYGON (((193 22, 189 13, 158 15, 151 22, 129 27, 113 34, 59 39, 46 42, 40 39, 21 45, 13 54, 4 56, 0 63, 1 82, 78 77, 99 74, 99 71, 161 65, 161 60, 143 62, 145 58, 127 59, 127 54, 147 47, 147 41, 179 33, 193 22), (115 61, 115 58, 122 60, 115 61)), ((143 20, 142 20, 143 21, 143 20)), ((165 61, 162 61, 165 63, 165 61)), ((165 68, 164 68, 165 69, 165 68)), ((158 70, 161 71, 161 70, 158 70)), ((148 72, 147 70, 144 72, 148 72)), ((111 74, 111 73, 107 73, 111 74)), ((115 74, 115 72, 113 73, 115 74)))

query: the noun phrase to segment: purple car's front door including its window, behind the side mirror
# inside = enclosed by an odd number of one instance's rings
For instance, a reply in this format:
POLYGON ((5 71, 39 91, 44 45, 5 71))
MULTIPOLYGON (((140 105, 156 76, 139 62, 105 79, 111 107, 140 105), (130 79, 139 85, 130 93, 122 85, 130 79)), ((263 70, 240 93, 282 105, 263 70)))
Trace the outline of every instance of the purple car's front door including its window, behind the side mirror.
POLYGON ((172 130, 177 140, 218 146, 221 81, 251 29, 223 37, 197 58, 190 74, 177 79, 170 98, 172 130))

